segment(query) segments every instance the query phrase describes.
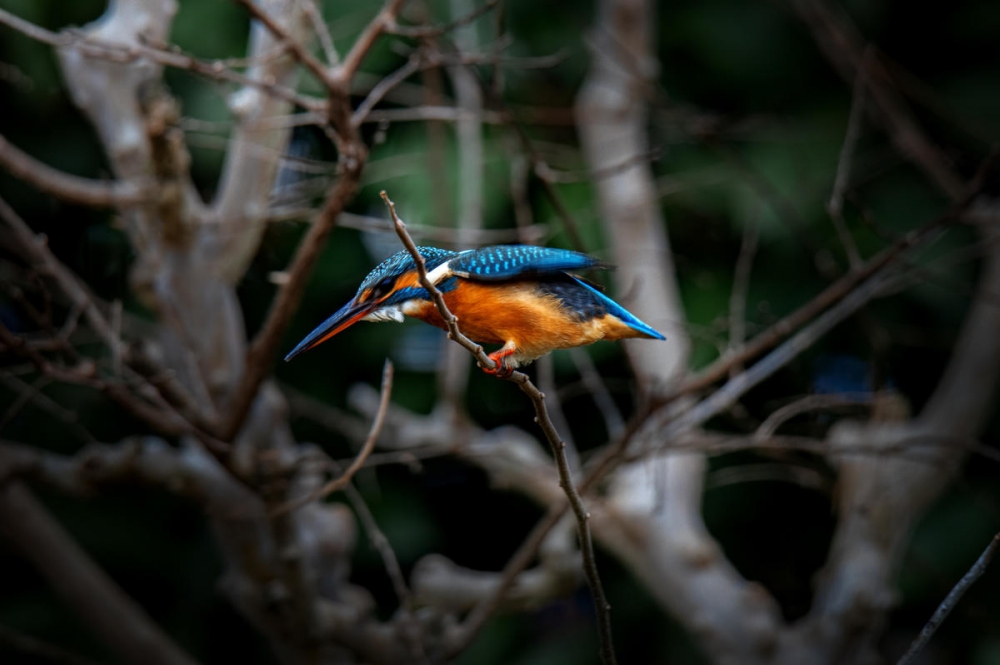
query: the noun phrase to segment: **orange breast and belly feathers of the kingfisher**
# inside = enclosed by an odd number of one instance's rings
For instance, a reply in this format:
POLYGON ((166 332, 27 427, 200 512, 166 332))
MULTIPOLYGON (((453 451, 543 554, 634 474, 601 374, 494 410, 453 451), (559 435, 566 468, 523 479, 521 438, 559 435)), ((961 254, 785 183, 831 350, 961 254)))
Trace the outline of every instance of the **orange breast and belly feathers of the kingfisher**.
MULTIPOLYGON (((641 336, 612 315, 580 321, 562 301, 536 289, 530 281, 487 284, 460 278, 458 286, 444 294, 444 301, 458 317, 459 329, 473 341, 513 342, 532 357, 601 339, 641 336)), ((431 302, 412 316, 446 328, 431 302)))

